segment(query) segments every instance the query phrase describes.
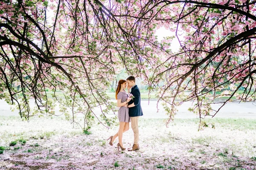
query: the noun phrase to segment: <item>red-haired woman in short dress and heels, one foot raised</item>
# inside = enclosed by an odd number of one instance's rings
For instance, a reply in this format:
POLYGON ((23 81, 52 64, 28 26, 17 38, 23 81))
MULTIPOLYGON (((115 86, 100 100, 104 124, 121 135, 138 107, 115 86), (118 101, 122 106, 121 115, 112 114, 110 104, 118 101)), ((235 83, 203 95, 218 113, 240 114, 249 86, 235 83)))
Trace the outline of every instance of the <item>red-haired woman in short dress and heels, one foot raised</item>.
POLYGON ((128 94, 125 92, 125 88, 127 88, 127 82, 123 79, 119 80, 116 88, 117 107, 119 107, 119 110, 118 110, 119 130, 118 130, 118 133, 116 133, 114 136, 110 136, 108 138, 110 139, 109 144, 112 146, 114 140, 118 136, 118 140, 119 140, 119 143, 117 144, 118 150, 119 150, 119 147, 121 147, 122 150, 125 150, 125 147, 123 147, 123 144, 122 144, 122 135, 124 132, 129 130, 129 122, 130 122, 129 109, 127 108, 127 103, 131 99, 127 99, 128 94))

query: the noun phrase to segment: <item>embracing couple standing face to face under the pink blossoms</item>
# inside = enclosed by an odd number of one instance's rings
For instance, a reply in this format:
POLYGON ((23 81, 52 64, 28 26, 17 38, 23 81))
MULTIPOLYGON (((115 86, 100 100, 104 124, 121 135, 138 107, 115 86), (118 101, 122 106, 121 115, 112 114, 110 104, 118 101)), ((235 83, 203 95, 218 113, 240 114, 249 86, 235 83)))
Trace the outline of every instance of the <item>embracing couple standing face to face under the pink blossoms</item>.
POLYGON ((130 76, 125 80, 121 79, 118 82, 116 88, 116 99, 119 119, 119 130, 114 136, 110 136, 109 144, 112 146, 114 140, 118 136, 119 143, 117 144, 122 150, 125 150, 122 144, 122 135, 125 131, 129 130, 129 122, 131 122, 131 128, 134 132, 134 144, 133 147, 129 148, 128 151, 139 150, 139 116, 143 116, 141 105, 140 105, 140 90, 135 84, 135 77, 130 76), (127 86, 128 85, 128 86, 127 86), (127 88, 128 93, 125 91, 127 88), (130 92, 131 89, 131 92, 130 92), (134 97, 131 98, 128 95, 132 94, 134 97))

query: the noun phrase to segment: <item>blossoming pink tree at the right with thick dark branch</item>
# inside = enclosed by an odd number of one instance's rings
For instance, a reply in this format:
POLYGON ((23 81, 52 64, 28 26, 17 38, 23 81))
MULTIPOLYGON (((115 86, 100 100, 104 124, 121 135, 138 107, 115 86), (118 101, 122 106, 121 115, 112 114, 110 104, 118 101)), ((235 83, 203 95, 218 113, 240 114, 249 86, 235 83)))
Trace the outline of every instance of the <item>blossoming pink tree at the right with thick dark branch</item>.
POLYGON ((169 121, 185 101, 194 101, 190 111, 200 116, 199 129, 208 126, 205 116, 215 116, 227 102, 255 101, 256 1, 162 3, 160 14, 170 11, 164 19, 174 23, 180 51, 153 68, 151 85, 166 80, 159 96, 169 121), (221 107, 213 110, 213 103, 221 107))

